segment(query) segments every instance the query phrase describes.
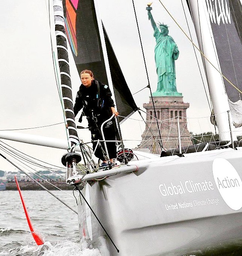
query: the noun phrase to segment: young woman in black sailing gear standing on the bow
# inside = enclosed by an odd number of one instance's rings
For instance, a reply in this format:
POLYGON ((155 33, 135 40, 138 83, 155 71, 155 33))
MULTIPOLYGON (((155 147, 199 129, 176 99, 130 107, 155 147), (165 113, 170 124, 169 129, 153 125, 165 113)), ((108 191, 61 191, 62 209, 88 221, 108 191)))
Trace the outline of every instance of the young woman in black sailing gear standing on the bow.
MULTIPOLYGON (((100 131, 102 123, 109 119, 112 114, 118 116, 115 110, 114 101, 111 96, 112 93, 106 84, 102 84, 94 79, 93 72, 90 70, 83 70, 80 73, 81 86, 76 94, 76 101, 74 105, 75 116, 83 108, 82 115, 79 119, 81 122, 82 116, 87 116, 89 130, 91 131, 92 140, 102 140, 100 131)), ((105 140, 115 140, 116 126, 114 119, 103 126, 103 133, 105 140)), ((93 150, 96 148, 97 142, 93 142, 93 150)), ((101 143, 104 149, 103 143, 101 143)), ((107 142, 107 149, 111 163, 113 158, 117 157, 117 149, 115 142, 107 142)), ((102 149, 98 146, 94 152, 95 156, 103 161, 101 166, 108 166, 108 161, 103 155, 102 149)))

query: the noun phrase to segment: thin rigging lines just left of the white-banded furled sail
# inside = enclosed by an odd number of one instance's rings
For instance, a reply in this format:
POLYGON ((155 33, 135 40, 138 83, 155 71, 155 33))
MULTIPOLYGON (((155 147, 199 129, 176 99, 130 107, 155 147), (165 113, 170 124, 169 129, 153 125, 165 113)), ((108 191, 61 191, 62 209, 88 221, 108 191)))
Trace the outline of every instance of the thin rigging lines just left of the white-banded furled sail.
MULTIPOLYGON (((50 2, 49 2, 49 6, 50 6, 50 2)), ((58 90, 58 94, 59 94, 59 98, 60 98, 60 103, 61 103, 61 107, 62 107, 62 111, 63 111, 64 123, 65 123, 65 125, 66 125, 66 127, 67 127, 66 113, 65 113, 65 108, 64 108, 64 106, 63 106, 63 100, 62 100, 62 93, 61 93, 61 87, 60 87, 58 69, 57 69, 57 64, 56 64, 55 52, 54 52, 54 49, 53 49, 53 40, 52 40, 52 36, 51 36, 51 17, 50 17, 50 9, 49 9, 49 28, 50 28, 50 30, 49 30, 49 35, 50 35, 50 40, 51 40, 52 61, 53 61, 53 66, 54 66, 55 81, 56 81, 56 86, 57 86, 57 90, 58 90)), ((68 136, 68 133, 67 133, 67 128, 66 128, 66 137, 67 137, 68 148, 70 148, 69 136, 68 136)))

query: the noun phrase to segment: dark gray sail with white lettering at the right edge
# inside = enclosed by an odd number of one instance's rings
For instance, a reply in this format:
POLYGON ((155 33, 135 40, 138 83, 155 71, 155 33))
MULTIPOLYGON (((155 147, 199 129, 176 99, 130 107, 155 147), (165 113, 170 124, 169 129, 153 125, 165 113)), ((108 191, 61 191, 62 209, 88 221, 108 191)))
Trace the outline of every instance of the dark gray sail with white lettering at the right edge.
MULTIPOLYGON (((242 6, 240 0, 206 1, 214 42, 222 74, 242 90, 242 6)), ((240 98, 236 90, 224 79, 228 98, 240 98)))

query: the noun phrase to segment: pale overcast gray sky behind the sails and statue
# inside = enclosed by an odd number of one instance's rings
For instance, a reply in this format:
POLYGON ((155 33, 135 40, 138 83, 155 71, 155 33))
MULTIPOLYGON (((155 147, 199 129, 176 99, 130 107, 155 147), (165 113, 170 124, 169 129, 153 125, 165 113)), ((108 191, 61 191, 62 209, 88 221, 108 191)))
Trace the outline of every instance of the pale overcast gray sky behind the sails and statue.
MULTIPOLYGON (((164 0, 162 2, 180 26, 188 33, 181 1, 164 0)), ((154 61, 155 38, 145 9, 146 4, 147 1, 134 0, 149 81, 152 92, 154 92, 157 88, 154 61)), ((45 0, 10 0, 1 3, 1 6, 3 11, 1 12, 0 25, 0 130, 32 128, 63 122, 63 113, 52 64, 48 5, 46 5, 45 0)), ((195 38, 194 28, 185 1, 184 7, 193 38, 195 38)), ((179 58, 176 61, 176 84, 178 92, 182 92, 184 96, 184 102, 190 103, 187 116, 193 118, 209 116, 210 110, 191 43, 158 0, 153 1, 152 8, 154 20, 169 26, 169 35, 173 37, 180 51, 179 58)), ((102 0, 99 1, 99 9, 124 77, 131 93, 135 93, 147 86, 148 81, 132 1, 102 0)), ((195 39, 194 41, 197 44, 195 39)), ((198 53, 197 56, 200 60, 198 53)), ((72 56, 70 56, 70 63, 72 65, 73 99, 75 99, 80 82, 72 56)), ((143 103, 149 102, 149 90, 145 89, 135 94, 134 100, 137 106, 142 108, 143 103)), ((139 115, 134 114, 132 117, 139 118, 139 115)), ((197 120, 193 120, 192 123, 194 123, 193 132, 208 131, 208 127, 201 128, 197 120)), ((85 125, 85 122, 82 125, 85 125)), ((126 121, 121 129, 124 139, 140 140, 144 125, 126 121)), ((66 139, 63 124, 16 132, 66 139)), ((85 141, 90 140, 89 131, 80 130, 79 136, 85 141)), ((66 151, 59 149, 3 141, 25 154, 59 166, 61 166, 61 156, 66 153, 66 151)), ((130 145, 132 147, 137 144, 139 142, 127 142, 126 146, 130 145)), ((0 170, 14 169, 6 160, 0 159, 0 170)))

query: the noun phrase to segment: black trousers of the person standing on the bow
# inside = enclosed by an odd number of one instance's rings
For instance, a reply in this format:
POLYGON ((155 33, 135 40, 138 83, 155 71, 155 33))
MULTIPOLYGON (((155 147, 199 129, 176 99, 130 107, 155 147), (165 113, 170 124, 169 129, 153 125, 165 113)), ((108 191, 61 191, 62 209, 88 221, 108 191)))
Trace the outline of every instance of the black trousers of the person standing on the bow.
MULTIPOLYGON (((108 118, 107 118, 108 119, 108 118)), ((103 140, 102 134, 101 134, 101 125, 102 123, 97 122, 96 125, 89 124, 89 129, 91 131, 91 139, 92 140, 103 140), (90 126, 91 125, 91 126, 90 126)), ((116 124, 115 121, 109 121, 103 126, 103 134, 105 137, 105 140, 115 140, 116 137, 116 124)), ((103 154, 102 149, 105 151, 105 145, 103 142, 100 142, 102 148, 100 146, 97 146, 97 149, 94 153, 94 155, 99 158, 100 160, 104 161, 106 160, 103 154)), ((93 142, 93 151, 96 148, 97 142, 93 142)), ((107 149, 108 149, 108 155, 109 158, 116 158, 117 157, 117 148, 115 145, 115 142, 106 142, 107 149)))

